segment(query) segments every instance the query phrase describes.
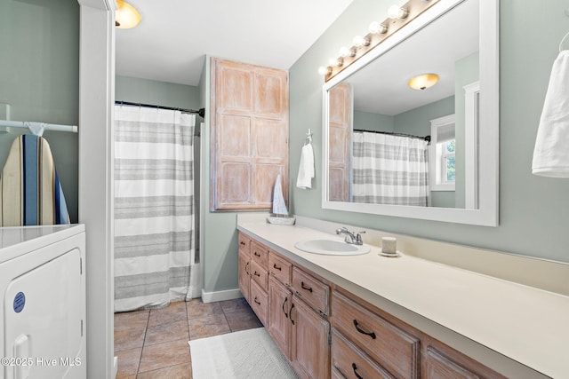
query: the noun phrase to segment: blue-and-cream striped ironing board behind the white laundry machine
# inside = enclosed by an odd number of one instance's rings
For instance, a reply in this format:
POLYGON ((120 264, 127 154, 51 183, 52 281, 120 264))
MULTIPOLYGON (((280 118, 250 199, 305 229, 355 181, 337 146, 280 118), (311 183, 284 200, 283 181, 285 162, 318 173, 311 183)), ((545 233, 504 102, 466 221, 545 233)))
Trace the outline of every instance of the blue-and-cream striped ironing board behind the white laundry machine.
POLYGON ((65 196, 47 141, 17 138, 0 177, 0 226, 69 224, 65 196))

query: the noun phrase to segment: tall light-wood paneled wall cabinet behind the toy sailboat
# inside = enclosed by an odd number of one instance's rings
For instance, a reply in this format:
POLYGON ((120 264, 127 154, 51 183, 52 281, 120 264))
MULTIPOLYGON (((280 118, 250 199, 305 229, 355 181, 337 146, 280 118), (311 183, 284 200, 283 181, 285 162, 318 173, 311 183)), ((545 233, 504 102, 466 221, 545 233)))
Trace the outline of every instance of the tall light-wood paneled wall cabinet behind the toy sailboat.
POLYGON ((212 59, 211 209, 270 209, 276 176, 288 200, 288 74, 212 59))

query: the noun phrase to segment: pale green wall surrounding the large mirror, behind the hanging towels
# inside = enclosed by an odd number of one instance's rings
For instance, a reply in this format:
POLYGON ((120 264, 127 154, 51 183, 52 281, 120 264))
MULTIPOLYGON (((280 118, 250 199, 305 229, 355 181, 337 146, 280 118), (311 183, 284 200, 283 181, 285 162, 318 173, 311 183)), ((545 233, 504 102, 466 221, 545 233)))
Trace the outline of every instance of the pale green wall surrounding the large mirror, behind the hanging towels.
MULTIPOLYGON (((309 191, 293 186, 304 134, 314 130, 317 173, 322 170, 322 76, 317 67, 342 44, 385 16, 388 0, 357 0, 341 14, 290 69, 290 173, 294 213, 451 241, 485 249, 569 262, 569 180, 531 173, 533 146, 557 45, 569 24, 567 0, 501 0, 500 37, 500 225, 456 225, 403 217, 384 217, 321 208, 317 175, 309 191), (540 33, 528 33, 527 21, 540 33)), ((483 168, 484 170, 484 168, 483 168)))

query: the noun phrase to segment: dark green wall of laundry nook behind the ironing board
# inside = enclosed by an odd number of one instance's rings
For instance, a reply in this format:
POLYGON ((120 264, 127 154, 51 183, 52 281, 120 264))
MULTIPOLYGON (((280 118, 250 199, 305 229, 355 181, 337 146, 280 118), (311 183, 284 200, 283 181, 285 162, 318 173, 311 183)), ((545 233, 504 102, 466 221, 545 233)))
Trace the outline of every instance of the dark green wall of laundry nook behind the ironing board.
MULTIPOLYGON (((0 0, 0 104, 11 120, 76 125, 79 119, 79 4, 76 0, 0 0)), ((0 111, 2 119, 4 112, 0 111)), ((0 133, 0 169, 24 130, 0 133)), ((78 142, 75 133, 46 131, 77 222, 78 142)))

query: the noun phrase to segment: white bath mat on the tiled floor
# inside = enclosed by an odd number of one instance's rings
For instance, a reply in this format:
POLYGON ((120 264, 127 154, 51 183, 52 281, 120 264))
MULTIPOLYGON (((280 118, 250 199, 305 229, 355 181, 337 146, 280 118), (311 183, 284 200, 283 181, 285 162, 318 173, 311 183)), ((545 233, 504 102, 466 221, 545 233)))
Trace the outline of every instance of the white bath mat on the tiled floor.
POLYGON ((297 379, 265 328, 189 341, 194 379, 297 379))

